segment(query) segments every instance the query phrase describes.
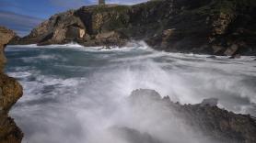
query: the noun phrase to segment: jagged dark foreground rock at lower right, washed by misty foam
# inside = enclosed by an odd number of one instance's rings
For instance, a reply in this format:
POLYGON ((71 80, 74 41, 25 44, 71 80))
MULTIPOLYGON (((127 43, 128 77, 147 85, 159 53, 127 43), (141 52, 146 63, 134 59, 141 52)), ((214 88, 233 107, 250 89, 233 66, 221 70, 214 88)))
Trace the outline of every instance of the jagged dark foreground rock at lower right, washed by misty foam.
MULTIPOLYGON (((173 103, 169 100, 169 96, 162 98, 159 93, 154 90, 140 89, 135 90, 131 96, 128 98, 129 103, 133 106, 134 111, 138 113, 145 113, 151 117, 148 117, 148 120, 152 118, 157 118, 161 115, 159 113, 164 113, 166 118, 161 118, 157 120, 156 125, 151 127, 159 127, 164 123, 165 126, 168 126, 169 122, 165 123, 165 120, 173 122, 173 126, 179 126, 182 128, 187 126, 189 129, 192 129, 194 135, 192 137, 205 137, 207 138, 203 142, 214 142, 214 143, 255 143, 256 142, 256 121, 255 118, 250 115, 239 115, 232 112, 228 112, 225 109, 220 109, 216 105, 212 104, 215 102, 215 99, 204 100, 201 104, 179 104, 173 103), (205 104, 206 102, 211 104, 205 104), (138 111, 141 110, 141 111, 138 111), (152 114, 151 111, 155 113, 152 114), (174 116, 177 118, 171 119, 174 116), (167 119, 168 118, 168 119, 167 119), (178 122, 178 120, 180 120, 178 122), (211 140, 211 141, 209 141, 211 140)), ((136 116, 136 115, 134 115, 136 116)), ((147 120, 145 120, 147 122, 147 120)), ((168 126, 169 127, 169 126, 168 126)), ((170 127, 169 127, 170 128, 170 127)), ((155 128, 156 129, 156 128, 155 128)), ((119 127, 119 130, 122 134, 126 133, 125 137, 131 137, 135 134, 135 131, 131 128, 119 127), (121 131, 122 130, 122 131, 121 131)), ((185 129, 186 130, 186 129, 185 129)), ((179 132, 179 131, 178 131, 179 132)), ((169 137, 175 137, 169 133, 169 137)), ((182 142, 184 139, 186 142, 190 140, 188 132, 184 130, 177 134, 178 142, 182 142), (180 134, 180 135, 179 135, 180 134), (184 135, 182 135, 184 134, 184 135), (179 137, 180 136, 180 137, 179 137)), ((175 135, 175 134, 174 134, 175 135)), ((167 140, 157 140, 157 138, 152 137, 147 134, 137 134, 136 137, 140 139, 155 140, 153 142, 167 142, 167 140)), ((168 140, 170 141, 170 140, 168 140)), ((175 141, 175 140, 171 140, 175 141)), ((197 140, 198 141, 198 140, 197 140)), ((133 141, 132 141, 133 142, 133 141)), ((144 142, 141 140, 140 142, 144 142)), ((202 140, 200 141, 202 142, 202 140)), ((135 142, 133 142, 135 143, 135 142)))

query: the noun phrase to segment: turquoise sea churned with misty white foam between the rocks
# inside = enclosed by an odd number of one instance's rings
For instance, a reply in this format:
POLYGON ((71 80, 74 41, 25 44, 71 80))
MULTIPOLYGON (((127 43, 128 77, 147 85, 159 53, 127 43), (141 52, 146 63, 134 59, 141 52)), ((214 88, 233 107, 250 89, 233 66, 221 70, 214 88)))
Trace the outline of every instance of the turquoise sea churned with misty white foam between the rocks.
POLYGON ((131 117, 123 100, 139 88, 154 89, 181 104, 215 97, 218 106, 229 111, 256 115, 255 57, 229 60, 166 53, 144 44, 108 50, 77 45, 9 46, 6 57, 6 72, 24 87, 11 115, 25 133, 26 143, 125 142, 106 132, 116 125, 152 134, 163 142, 177 139, 165 136, 167 132, 191 134, 183 129, 169 131, 174 125, 166 116, 153 115, 169 123, 158 128, 148 128, 156 121, 152 116, 148 121, 143 113, 131 117))

